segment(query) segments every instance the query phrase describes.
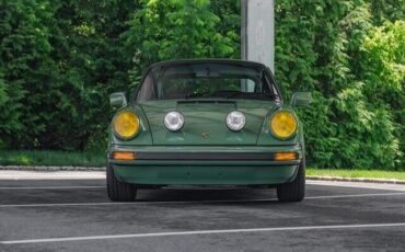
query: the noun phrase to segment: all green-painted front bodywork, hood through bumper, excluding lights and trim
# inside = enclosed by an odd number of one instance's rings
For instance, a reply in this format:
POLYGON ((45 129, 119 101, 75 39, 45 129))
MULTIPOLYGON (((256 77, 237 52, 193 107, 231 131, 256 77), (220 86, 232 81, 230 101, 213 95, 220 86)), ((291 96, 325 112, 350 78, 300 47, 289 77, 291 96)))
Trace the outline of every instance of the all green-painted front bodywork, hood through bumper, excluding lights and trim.
POLYGON ((269 130, 269 119, 278 110, 293 110, 266 101, 234 101, 230 103, 186 103, 157 101, 132 104, 140 117, 141 131, 130 140, 121 140, 109 130, 108 157, 114 150, 136 153, 274 153, 296 151, 299 160, 136 160, 108 159, 117 177, 127 183, 143 185, 274 185, 292 181, 304 154, 302 125, 290 139, 279 140, 269 130), (185 117, 184 127, 173 133, 163 124, 170 111, 180 111, 185 117), (225 125, 231 111, 246 116, 246 126, 239 133, 225 125), (201 136, 209 133, 208 138, 201 136))

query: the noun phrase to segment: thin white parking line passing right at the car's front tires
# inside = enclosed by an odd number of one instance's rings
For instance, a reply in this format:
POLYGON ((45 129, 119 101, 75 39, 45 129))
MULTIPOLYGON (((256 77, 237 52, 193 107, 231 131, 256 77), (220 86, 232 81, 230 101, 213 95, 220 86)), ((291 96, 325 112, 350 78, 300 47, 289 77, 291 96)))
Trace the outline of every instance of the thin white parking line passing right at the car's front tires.
MULTIPOLYGON (((350 198, 350 197, 377 197, 377 196, 401 196, 405 193, 384 193, 384 194, 351 194, 351 195, 328 195, 305 197, 305 199, 323 198, 350 198)), ((158 204, 210 204, 210 203, 248 203, 248 202, 275 202, 277 198, 257 198, 257 199, 224 199, 224 201, 188 201, 188 202, 102 202, 102 203, 56 203, 56 204, 16 204, 0 205, 0 208, 9 207, 74 207, 74 206, 108 206, 108 205, 158 205, 158 204)))

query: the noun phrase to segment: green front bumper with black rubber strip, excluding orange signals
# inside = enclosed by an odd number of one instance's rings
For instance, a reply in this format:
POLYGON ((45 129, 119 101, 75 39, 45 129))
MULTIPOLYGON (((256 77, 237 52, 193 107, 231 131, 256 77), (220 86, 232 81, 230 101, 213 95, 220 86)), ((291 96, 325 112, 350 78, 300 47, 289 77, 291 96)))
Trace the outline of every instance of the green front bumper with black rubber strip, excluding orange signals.
POLYGON ((270 185, 296 177, 302 160, 300 145, 273 147, 111 146, 108 163, 116 176, 142 185, 270 185), (120 161, 113 151, 135 151, 120 161), (275 152, 297 152, 297 160, 275 161, 275 152))

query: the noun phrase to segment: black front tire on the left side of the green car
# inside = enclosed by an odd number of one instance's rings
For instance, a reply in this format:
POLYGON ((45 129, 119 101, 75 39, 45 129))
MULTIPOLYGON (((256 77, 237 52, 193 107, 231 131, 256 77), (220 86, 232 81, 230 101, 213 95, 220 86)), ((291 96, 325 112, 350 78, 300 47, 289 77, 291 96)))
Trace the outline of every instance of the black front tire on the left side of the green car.
POLYGON ((137 191, 134 184, 118 181, 113 168, 107 164, 107 194, 113 202, 134 202, 137 191))

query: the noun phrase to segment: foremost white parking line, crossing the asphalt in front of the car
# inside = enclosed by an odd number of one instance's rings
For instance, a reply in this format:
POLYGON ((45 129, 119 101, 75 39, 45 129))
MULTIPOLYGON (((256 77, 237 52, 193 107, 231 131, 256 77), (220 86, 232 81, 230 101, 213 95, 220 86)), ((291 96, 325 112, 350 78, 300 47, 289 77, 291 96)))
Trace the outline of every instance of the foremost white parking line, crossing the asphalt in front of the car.
POLYGON ((195 236, 195 234, 215 234, 215 233, 302 231, 302 230, 327 230, 327 229, 361 229, 361 228, 375 229, 375 228, 394 228, 394 227, 405 227, 405 222, 398 222, 398 224, 366 224, 366 225, 331 225, 331 226, 282 227, 282 228, 223 229, 223 230, 197 230, 197 231, 128 233, 128 234, 92 236, 92 237, 66 237, 66 238, 0 241, 0 244, 44 243, 44 242, 60 242, 60 241, 88 241, 88 240, 148 238, 148 237, 153 238, 153 237, 195 236))

